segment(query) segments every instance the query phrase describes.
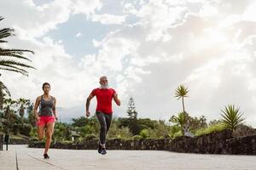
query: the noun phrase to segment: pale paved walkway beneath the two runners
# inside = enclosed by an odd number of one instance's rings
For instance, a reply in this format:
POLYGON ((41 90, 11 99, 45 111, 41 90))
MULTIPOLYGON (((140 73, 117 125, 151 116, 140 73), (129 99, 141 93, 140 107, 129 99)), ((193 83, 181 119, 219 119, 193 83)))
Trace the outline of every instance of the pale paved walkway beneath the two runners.
POLYGON ((102 156, 96 150, 50 149, 50 159, 44 160, 43 151, 27 148, 26 145, 10 145, 8 151, 0 151, 0 170, 256 169, 256 156, 181 154, 154 150, 108 150, 108 154, 102 156))

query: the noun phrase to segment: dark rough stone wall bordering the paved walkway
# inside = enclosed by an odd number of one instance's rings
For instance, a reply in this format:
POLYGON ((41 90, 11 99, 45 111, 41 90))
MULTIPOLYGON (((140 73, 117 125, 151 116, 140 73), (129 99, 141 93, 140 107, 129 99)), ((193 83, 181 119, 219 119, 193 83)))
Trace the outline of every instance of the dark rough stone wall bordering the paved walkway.
MULTIPOLYGON (((30 142, 29 147, 44 147, 44 143, 30 142)), ((73 150, 96 150, 97 140, 79 143, 55 143, 52 148, 73 150)), ((170 150, 183 153, 256 155, 256 135, 232 137, 229 130, 210 133, 200 137, 177 139, 109 139, 108 150, 170 150)))

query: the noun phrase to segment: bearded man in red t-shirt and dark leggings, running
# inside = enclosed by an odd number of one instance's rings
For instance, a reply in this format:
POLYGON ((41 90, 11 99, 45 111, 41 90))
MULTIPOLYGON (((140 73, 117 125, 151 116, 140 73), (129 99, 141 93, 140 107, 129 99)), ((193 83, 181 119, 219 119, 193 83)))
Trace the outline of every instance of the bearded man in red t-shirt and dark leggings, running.
POLYGON ((105 155, 106 151, 106 135, 112 120, 112 99, 116 105, 121 105, 121 102, 113 88, 108 87, 108 78, 100 77, 100 88, 95 88, 90 93, 89 97, 86 100, 86 116, 90 116, 89 106, 90 99, 96 96, 97 105, 96 105, 96 117, 101 125, 100 131, 100 141, 98 144, 99 154, 105 155))

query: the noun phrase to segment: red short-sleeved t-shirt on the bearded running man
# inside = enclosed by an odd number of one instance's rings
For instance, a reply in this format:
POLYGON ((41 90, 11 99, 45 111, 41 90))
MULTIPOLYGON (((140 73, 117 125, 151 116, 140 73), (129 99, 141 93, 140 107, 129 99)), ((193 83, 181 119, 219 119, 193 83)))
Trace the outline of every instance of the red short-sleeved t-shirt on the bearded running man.
POLYGON ((106 114, 112 114, 112 99, 113 94, 115 94, 113 88, 95 88, 90 94, 96 96, 96 111, 102 111, 106 114))

